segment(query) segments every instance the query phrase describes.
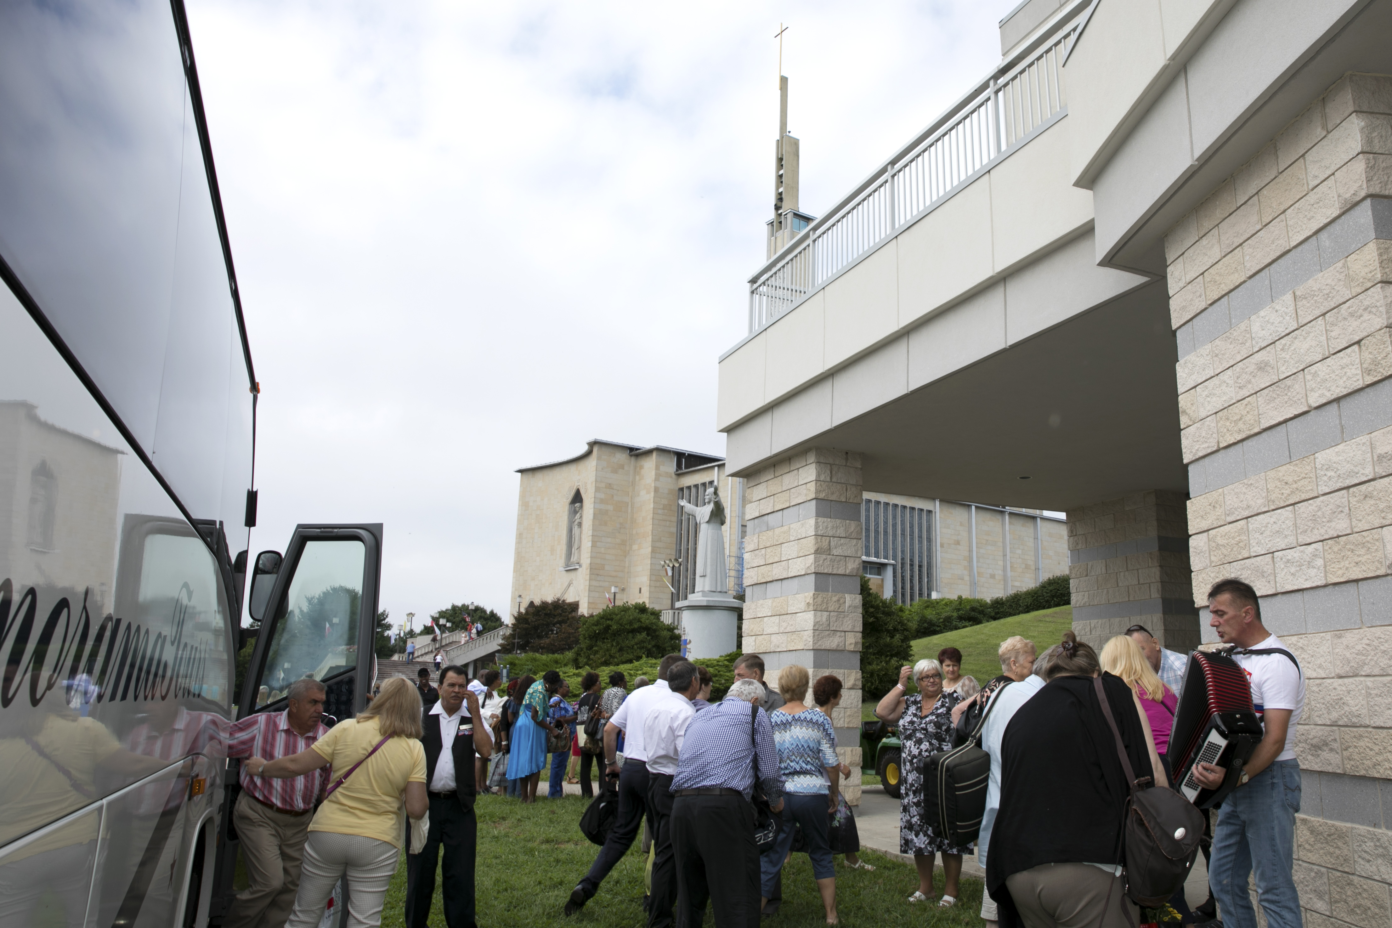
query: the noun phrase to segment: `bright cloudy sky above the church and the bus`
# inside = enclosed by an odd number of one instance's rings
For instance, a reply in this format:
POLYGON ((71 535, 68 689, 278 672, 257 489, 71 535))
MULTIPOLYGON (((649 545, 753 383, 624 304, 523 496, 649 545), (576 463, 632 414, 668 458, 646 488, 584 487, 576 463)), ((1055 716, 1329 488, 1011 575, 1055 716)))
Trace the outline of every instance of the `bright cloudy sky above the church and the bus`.
POLYGON ((724 454, 780 22, 820 214, 999 58, 1016 0, 188 0, 262 384, 260 525, 386 523, 394 621, 508 608, 519 466, 724 454))

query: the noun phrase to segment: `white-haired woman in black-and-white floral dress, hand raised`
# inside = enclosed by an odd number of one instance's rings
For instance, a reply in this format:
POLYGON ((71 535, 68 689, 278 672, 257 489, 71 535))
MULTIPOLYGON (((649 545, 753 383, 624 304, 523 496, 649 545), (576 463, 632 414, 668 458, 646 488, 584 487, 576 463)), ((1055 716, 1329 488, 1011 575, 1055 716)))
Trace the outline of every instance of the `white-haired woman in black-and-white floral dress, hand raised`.
POLYGON ((923 761, 930 754, 952 747, 952 707, 960 696, 942 689, 942 665, 919 661, 899 671, 899 682, 885 693, 874 714, 889 725, 898 725, 903 757, 899 769, 903 786, 899 797, 899 853, 913 854, 919 871, 919 889, 909 896, 910 903, 933 897, 933 860, 942 854, 942 899, 938 906, 948 909, 956 902, 958 878, 962 875, 962 854, 970 847, 952 847, 940 838, 923 810, 923 761), (909 682, 917 691, 909 694, 909 682))

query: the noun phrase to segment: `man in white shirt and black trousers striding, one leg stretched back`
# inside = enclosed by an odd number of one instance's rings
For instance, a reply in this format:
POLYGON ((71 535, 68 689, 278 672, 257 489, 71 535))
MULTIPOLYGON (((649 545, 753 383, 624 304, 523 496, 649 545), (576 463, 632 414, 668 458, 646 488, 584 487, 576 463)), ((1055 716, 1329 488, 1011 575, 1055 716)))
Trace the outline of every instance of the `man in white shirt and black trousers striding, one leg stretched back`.
POLYGON ((643 817, 649 813, 647 751, 643 747, 643 722, 647 718, 649 710, 671 694, 671 689, 667 686, 667 673, 672 669, 674 664, 683 659, 681 654, 668 654, 664 657, 657 668, 657 680, 651 686, 644 686, 629 693, 628 698, 624 700, 624 705, 614 714, 614 718, 604 725, 604 776, 610 782, 618 781, 618 821, 614 824, 614 829, 610 831, 604 846, 600 847, 599 856, 590 865, 590 872, 585 874, 585 878, 571 890, 569 899, 565 900, 562 911, 567 915, 574 915, 585 907, 585 903, 594 897, 594 893, 600 889, 600 883, 608 877, 608 871, 614 870, 614 865, 628 853, 629 846, 638 836, 638 829, 643 824, 643 817), (615 757, 618 733, 621 730, 624 732, 622 769, 619 769, 618 758, 615 757))

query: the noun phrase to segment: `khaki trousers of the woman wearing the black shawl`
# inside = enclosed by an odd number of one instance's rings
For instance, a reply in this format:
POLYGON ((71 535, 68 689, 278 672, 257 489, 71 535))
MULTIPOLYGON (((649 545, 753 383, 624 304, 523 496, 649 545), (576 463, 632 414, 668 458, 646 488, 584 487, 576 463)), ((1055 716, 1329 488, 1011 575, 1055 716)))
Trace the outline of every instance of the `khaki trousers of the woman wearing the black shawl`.
POLYGON ((1091 864, 1040 864, 1005 886, 1026 928, 1130 928, 1140 914, 1122 878, 1091 864))

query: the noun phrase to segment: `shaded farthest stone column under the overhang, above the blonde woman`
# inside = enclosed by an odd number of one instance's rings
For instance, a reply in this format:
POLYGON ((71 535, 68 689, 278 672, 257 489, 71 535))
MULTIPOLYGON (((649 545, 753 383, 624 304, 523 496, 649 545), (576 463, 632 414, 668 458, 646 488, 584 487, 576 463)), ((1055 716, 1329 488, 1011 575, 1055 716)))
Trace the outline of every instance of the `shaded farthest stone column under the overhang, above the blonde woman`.
POLYGON ((1183 493, 1151 490, 1070 511, 1068 555, 1080 640, 1101 650, 1139 623, 1175 651, 1199 646, 1183 493))

